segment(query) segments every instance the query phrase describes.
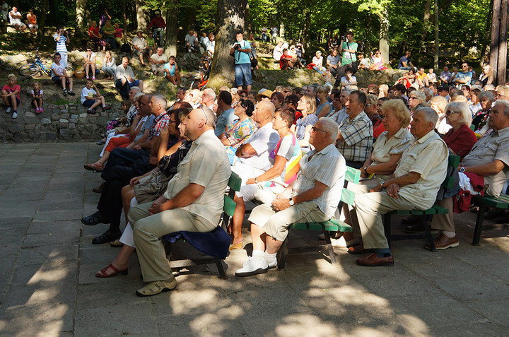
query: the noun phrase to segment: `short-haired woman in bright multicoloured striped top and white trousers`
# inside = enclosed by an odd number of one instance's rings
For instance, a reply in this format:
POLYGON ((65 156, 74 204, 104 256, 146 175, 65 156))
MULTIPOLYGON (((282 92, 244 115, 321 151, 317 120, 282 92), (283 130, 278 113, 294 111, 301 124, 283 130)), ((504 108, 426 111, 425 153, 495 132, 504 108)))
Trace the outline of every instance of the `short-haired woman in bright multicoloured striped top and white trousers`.
POLYGON ((279 142, 270 153, 270 160, 274 165, 262 175, 247 179, 246 184, 235 194, 235 213, 229 226, 229 231, 233 235, 230 249, 242 248, 241 230, 245 202, 257 199, 263 203, 270 203, 297 177, 301 153, 297 138, 290 130, 294 120, 295 110, 291 107, 283 107, 274 114, 272 128, 279 134, 279 142))

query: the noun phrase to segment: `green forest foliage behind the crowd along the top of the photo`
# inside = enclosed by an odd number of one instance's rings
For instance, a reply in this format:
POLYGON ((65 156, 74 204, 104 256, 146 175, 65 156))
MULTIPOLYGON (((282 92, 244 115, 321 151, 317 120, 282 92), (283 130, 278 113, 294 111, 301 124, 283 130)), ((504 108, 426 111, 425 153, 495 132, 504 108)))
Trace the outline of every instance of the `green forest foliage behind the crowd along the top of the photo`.
MULTIPOLYGON (((160 10, 173 27, 167 33, 170 45, 182 41, 189 29, 215 32, 218 13, 217 0, 16 0, 8 4, 18 6, 22 13, 34 8, 39 18, 45 11, 45 27, 77 25, 83 30, 91 20, 99 19, 104 8, 113 23, 129 31, 146 27, 153 11, 160 10)), ((245 28, 258 37, 262 27, 283 24, 286 40, 300 40, 311 48, 307 57, 317 48, 324 50, 328 37, 348 30, 356 32, 355 40, 364 52, 378 48, 382 36, 393 65, 409 49, 414 64, 433 67, 438 12, 440 66, 461 59, 481 61, 489 45, 490 0, 438 0, 437 8, 435 11, 433 0, 250 0, 245 28)))

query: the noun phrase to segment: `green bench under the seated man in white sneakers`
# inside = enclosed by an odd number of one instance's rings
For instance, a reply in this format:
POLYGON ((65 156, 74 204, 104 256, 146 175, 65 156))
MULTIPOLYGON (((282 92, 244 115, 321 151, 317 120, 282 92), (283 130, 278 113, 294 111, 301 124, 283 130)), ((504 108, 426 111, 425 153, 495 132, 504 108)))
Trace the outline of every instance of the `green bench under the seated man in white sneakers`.
MULTIPOLYGON (((344 203, 348 205, 353 205, 353 199, 355 199, 355 193, 353 191, 349 191, 346 189, 349 182, 353 184, 358 184, 359 179, 361 178, 361 171, 356 170, 352 167, 346 167, 345 181, 344 187, 341 191, 341 200, 339 201, 338 209, 341 212, 344 203)), ((325 236, 325 242, 327 247, 327 252, 329 253, 329 259, 331 260, 331 264, 338 264, 336 253, 334 253, 334 249, 332 247, 331 239, 329 232, 351 232, 352 227, 340 220, 330 219, 323 223, 293 223, 290 225, 290 228, 293 230, 321 230, 325 236)), ((288 237, 284 240, 281 245, 281 249, 279 249, 277 255, 278 268, 281 270, 286 265, 286 255, 288 254, 300 254, 305 252, 315 251, 317 247, 292 247, 288 249, 288 237)))

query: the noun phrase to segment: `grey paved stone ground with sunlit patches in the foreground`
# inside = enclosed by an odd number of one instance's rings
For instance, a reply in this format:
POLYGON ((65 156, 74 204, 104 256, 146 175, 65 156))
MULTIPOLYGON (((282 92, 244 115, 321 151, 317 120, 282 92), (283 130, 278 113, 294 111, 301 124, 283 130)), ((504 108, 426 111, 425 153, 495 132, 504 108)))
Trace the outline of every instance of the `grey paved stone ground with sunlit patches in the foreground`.
MULTIPOLYGON (((422 240, 394 242, 392 268, 356 266, 339 249, 289 256, 285 271, 239 279, 246 252, 230 254, 228 280, 211 268, 177 277, 177 289, 136 297, 128 276, 94 274, 118 249, 90 240, 107 225, 95 210, 100 177, 83 172, 93 143, 0 144, 0 334, 3 336, 507 336, 509 232, 472 247, 474 215, 457 216, 460 247, 431 253, 422 240)), ((245 238, 249 233, 245 230, 245 238)), ((316 233, 292 233, 292 244, 316 233)), ((249 246, 249 245, 248 245, 249 246)))

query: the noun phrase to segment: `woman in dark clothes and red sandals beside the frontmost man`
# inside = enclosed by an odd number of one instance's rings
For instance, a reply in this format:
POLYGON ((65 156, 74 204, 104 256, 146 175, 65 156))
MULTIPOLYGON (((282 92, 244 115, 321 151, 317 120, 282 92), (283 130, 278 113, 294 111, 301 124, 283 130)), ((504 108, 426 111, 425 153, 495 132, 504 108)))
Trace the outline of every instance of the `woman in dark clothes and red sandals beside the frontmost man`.
POLYGON ((131 256, 135 249, 132 228, 127 220, 129 209, 131 206, 136 206, 138 203, 156 200, 161 196, 165 192, 168 182, 175 174, 177 165, 185 157, 189 148, 191 148, 192 142, 185 138, 185 129, 179 122, 186 118, 185 116, 189 113, 189 110, 177 109, 172 111, 171 118, 175 119, 176 122, 168 124, 168 128, 160 132, 158 167, 146 173, 146 175, 134 177, 131 179, 131 182, 129 182, 129 185, 122 189, 122 203, 124 206, 124 213, 126 214, 127 225, 122 233, 122 237, 112 242, 112 246, 121 247, 122 244, 123 246, 117 257, 115 257, 115 260, 95 274, 98 278, 109 278, 119 273, 127 275, 127 262, 129 261, 129 256, 131 256), (177 132, 182 137, 182 141, 177 142, 168 149, 166 144, 168 144, 170 134, 177 134, 177 132))

